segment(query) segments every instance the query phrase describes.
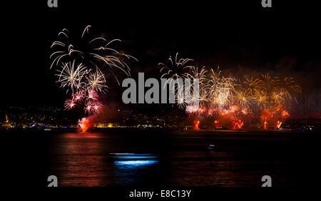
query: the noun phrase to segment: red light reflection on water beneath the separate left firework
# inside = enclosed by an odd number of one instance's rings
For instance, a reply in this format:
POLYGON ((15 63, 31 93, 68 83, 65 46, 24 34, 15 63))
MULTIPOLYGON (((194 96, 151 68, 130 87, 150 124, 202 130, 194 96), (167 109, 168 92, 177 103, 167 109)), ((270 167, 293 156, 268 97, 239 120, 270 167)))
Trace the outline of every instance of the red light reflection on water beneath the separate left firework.
POLYGON ((57 135, 51 158, 61 186, 102 186, 108 165, 104 160, 102 135, 63 133, 57 135))

